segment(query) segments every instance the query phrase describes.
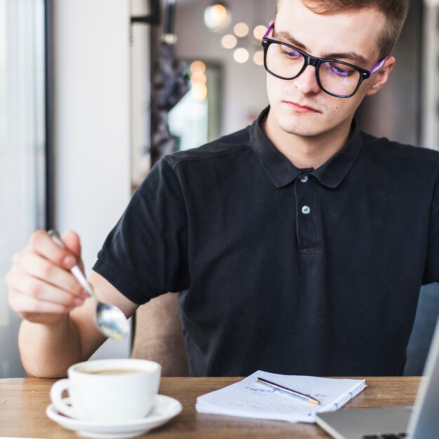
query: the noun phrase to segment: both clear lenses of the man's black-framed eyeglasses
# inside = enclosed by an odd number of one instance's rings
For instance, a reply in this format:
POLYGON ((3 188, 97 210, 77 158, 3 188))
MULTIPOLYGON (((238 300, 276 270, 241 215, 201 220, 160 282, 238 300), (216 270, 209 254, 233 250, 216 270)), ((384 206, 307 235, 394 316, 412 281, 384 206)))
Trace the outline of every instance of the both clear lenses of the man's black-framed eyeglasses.
MULTIPOLYGON (((306 64, 302 53, 281 43, 270 43, 266 50, 266 68, 283 79, 295 79, 306 64)), ((318 69, 320 87, 328 93, 347 96, 360 81, 360 72, 339 62, 323 62, 318 69)))

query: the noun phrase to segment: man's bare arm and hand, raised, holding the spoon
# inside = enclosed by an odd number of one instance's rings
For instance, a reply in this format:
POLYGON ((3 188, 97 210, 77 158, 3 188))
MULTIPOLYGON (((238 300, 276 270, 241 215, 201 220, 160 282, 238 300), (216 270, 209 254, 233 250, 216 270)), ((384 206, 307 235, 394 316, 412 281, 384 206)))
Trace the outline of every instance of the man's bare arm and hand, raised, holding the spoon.
MULTIPOLYGON (((80 261, 76 234, 65 236, 61 249, 46 232, 32 235, 28 247, 14 257, 6 280, 11 307, 22 316, 19 346, 28 374, 61 377, 67 368, 87 360, 105 338, 94 323, 95 302, 84 293, 67 266, 80 261), (66 262, 66 258, 73 260, 66 262)), ((127 317, 137 305, 97 273, 89 277, 97 297, 115 304, 127 317)))

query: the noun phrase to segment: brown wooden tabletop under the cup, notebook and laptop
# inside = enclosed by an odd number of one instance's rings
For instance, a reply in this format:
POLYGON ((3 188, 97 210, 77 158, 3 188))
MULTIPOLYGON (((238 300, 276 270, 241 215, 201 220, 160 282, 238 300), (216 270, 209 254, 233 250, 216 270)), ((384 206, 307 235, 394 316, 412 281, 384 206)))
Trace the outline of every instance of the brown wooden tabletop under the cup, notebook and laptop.
MULTIPOLYGON (((183 405, 168 424, 151 430, 144 438, 329 438, 315 424, 290 424, 197 413, 196 397, 220 389, 241 378, 162 378, 159 393, 183 405)), ((370 377, 367 388, 345 407, 412 405, 419 377, 370 377)), ((49 389, 55 380, 40 378, 0 379, 0 437, 77 439, 46 417, 49 389)), ((343 409, 342 409, 343 410, 343 409)))

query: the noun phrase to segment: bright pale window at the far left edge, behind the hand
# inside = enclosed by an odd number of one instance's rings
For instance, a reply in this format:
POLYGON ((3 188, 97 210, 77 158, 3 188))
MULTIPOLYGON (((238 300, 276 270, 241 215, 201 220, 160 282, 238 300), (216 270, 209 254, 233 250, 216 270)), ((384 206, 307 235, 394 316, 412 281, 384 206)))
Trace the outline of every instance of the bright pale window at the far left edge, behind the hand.
POLYGON ((44 18, 43 0, 0 0, 0 378, 24 374, 4 277, 46 225, 44 18))

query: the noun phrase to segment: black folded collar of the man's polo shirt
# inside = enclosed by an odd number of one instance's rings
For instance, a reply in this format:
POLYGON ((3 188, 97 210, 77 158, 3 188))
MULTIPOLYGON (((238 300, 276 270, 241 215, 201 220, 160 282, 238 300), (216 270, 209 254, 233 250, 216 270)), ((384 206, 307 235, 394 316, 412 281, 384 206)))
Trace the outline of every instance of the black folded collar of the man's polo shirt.
POLYGON ((271 182, 276 187, 284 187, 299 175, 307 173, 316 177, 321 184, 327 187, 337 187, 349 173, 360 151, 361 136, 356 120, 353 120, 351 137, 337 154, 316 170, 312 168, 299 169, 274 147, 269 138, 266 137, 264 130, 262 130, 261 121, 268 112, 269 107, 266 107, 250 126, 250 142, 259 163, 261 163, 271 182))

